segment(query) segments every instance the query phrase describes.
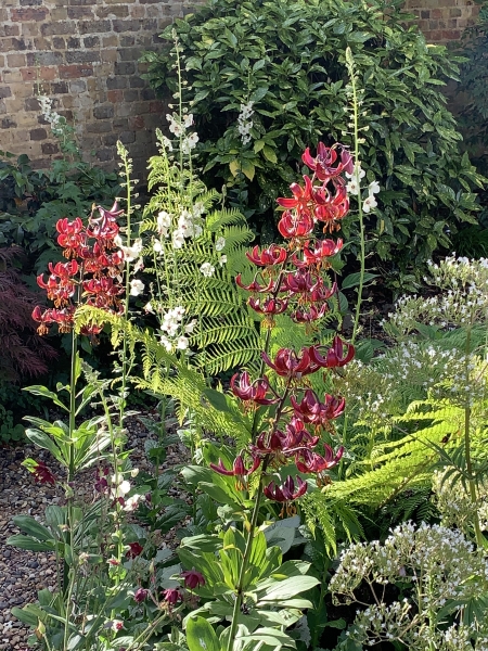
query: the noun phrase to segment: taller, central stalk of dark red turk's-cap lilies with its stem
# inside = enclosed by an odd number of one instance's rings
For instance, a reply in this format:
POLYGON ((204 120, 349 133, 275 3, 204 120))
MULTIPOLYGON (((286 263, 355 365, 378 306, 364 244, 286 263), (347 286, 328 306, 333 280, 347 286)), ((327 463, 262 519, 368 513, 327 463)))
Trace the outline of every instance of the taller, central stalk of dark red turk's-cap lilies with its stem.
POLYGON ((330 302, 337 291, 324 272, 343 242, 318 239, 313 231, 316 226, 321 226, 323 232, 334 232, 347 214, 349 202, 343 174, 352 171, 352 157, 342 145, 326 148, 319 143, 316 156, 307 149, 303 162, 312 170, 312 176, 304 176, 304 186, 292 183, 293 197, 277 200, 284 208, 278 228, 285 243, 262 250, 255 246, 246 254, 256 268, 254 277, 251 282, 245 282, 241 275, 235 279, 240 288, 252 294, 248 305, 262 316, 267 335, 259 378, 253 381, 245 371, 231 380, 231 391, 244 409, 255 410, 252 441, 237 455, 231 469, 221 460, 210 464, 216 472, 234 476, 236 486, 244 490, 251 488, 251 475, 258 473, 254 509, 245 526, 246 542, 235 586, 228 651, 233 649, 244 603, 262 499, 280 503, 282 514, 293 513, 293 502, 308 488, 301 475, 312 474, 319 484, 325 483, 328 472, 343 455, 343 447, 334 451, 325 444, 323 452, 318 452, 317 446, 321 431, 334 432, 332 421, 344 412, 345 401, 329 394, 319 397, 310 387, 308 376, 345 366, 354 357, 354 346, 335 336, 329 346, 313 344, 303 346, 299 352, 281 348, 273 358, 268 349, 270 331, 279 315, 287 314, 309 333, 317 333, 317 324, 329 312, 330 302), (267 409, 266 419, 258 414, 259 408, 267 409), (258 433, 264 422, 269 425, 258 433), (293 470, 291 464, 294 464, 293 470), (279 471, 285 467, 292 474, 282 481, 279 471))

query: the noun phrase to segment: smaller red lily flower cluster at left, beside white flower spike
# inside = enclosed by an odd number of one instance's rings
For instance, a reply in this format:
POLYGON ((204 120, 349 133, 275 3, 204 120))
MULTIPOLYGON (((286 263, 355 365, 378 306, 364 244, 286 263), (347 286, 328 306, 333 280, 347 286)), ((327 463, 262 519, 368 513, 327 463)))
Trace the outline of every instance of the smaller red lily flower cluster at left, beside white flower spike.
MULTIPOLYGON (((48 280, 43 275, 37 278, 37 284, 54 302, 54 308, 42 310, 37 306, 33 311, 33 319, 40 323, 39 334, 47 334, 51 323, 57 323, 60 332, 69 332, 81 298, 87 305, 121 314, 120 275, 126 259, 124 251, 117 247, 117 217, 121 213, 115 202, 110 210, 93 207, 87 226, 79 217, 57 221, 57 243, 68 261, 50 263, 48 280)), ((100 324, 92 324, 84 327, 81 333, 94 337, 101 330, 100 324)))

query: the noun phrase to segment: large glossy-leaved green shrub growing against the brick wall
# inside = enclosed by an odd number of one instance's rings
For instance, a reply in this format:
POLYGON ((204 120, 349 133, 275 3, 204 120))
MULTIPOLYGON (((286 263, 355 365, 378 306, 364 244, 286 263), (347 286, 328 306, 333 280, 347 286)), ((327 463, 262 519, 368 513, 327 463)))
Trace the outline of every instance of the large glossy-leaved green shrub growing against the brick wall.
MULTIPOLYGON (((152 86, 175 93, 176 33, 188 79, 182 99, 195 115, 207 182, 236 189, 266 231, 304 148, 352 144, 349 46, 363 89, 362 165, 382 188, 367 224, 369 247, 407 269, 449 247, 459 222, 473 221, 471 190, 484 179, 460 153, 440 92, 445 77, 457 77, 458 60, 404 27, 402 2, 387 4, 209 0, 163 33, 169 43, 162 53, 144 59, 152 86), (237 117, 249 101, 253 127, 243 144, 237 117)), ((354 218, 344 226, 346 235, 357 233, 354 218)))

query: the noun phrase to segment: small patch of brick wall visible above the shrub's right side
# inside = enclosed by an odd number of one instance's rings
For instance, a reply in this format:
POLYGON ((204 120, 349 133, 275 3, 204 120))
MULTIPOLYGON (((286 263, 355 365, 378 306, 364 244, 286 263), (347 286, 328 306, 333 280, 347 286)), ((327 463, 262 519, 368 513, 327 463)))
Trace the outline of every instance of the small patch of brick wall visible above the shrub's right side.
POLYGON ((431 43, 458 40, 479 13, 474 0, 406 0, 404 9, 418 16, 431 43))

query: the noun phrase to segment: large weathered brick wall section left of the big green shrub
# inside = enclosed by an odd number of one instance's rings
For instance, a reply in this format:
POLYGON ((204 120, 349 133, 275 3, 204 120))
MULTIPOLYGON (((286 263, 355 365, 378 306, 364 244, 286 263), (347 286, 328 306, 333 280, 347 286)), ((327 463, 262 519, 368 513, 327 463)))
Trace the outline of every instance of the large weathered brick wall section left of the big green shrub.
POLYGON ((0 149, 46 167, 59 155, 39 92, 74 124, 82 151, 114 167, 115 142, 138 170, 164 106, 140 75, 142 50, 195 0, 0 0, 0 149))

